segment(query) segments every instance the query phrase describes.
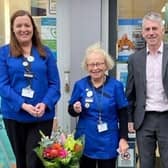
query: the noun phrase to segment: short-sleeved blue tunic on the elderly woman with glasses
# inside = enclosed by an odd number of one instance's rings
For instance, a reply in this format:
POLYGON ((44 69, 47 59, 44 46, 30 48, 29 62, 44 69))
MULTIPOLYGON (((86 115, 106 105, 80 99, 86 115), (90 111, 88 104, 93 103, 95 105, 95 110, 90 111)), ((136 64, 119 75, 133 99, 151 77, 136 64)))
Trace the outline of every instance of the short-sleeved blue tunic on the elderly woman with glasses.
POLYGON ((90 81, 89 76, 77 81, 69 101, 69 104, 76 101, 82 104, 75 136, 85 136, 84 155, 93 159, 114 158, 119 142, 117 109, 128 105, 123 85, 111 77, 100 88, 94 88, 90 81), (98 131, 100 113, 107 131, 98 131))

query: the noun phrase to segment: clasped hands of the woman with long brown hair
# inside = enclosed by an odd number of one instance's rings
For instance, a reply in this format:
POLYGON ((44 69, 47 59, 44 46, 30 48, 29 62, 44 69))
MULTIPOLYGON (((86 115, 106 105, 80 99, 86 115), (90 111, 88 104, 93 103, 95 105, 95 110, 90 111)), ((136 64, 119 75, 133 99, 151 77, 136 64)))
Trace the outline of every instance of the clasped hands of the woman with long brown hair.
POLYGON ((33 117, 42 117, 45 113, 46 105, 44 103, 37 103, 33 106, 31 104, 23 103, 22 109, 27 111, 33 117))

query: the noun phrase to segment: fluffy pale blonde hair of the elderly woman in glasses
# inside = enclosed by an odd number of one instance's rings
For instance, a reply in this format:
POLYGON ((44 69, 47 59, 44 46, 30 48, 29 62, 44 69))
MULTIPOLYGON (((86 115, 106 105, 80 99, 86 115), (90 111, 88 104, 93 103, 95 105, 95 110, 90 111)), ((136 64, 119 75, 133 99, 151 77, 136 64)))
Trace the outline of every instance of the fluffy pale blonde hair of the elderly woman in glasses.
POLYGON ((105 65, 107 66, 107 70, 111 70, 115 63, 112 57, 101 47, 100 43, 95 43, 89 46, 86 49, 84 59, 82 61, 82 68, 87 71, 87 60, 92 53, 99 53, 104 57, 105 65))

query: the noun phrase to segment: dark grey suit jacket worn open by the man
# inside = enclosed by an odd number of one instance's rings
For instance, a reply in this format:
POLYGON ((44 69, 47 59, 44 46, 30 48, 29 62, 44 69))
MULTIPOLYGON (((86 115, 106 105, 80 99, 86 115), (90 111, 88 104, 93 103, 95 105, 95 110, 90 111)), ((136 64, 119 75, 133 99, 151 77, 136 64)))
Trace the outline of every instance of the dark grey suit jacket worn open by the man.
MULTIPOLYGON (((138 129, 145 116, 146 104, 146 48, 131 55, 128 60, 126 95, 129 102, 128 121, 138 129)), ((162 82, 168 97, 168 45, 163 47, 162 82)))

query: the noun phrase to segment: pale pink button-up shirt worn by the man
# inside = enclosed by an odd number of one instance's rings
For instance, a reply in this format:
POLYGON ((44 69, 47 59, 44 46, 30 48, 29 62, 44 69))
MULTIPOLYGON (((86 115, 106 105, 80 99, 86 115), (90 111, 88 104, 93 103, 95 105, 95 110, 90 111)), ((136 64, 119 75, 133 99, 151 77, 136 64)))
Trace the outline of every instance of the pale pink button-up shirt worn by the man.
POLYGON ((162 83, 162 57, 163 43, 156 54, 151 54, 147 49, 146 62, 146 111, 167 111, 168 99, 162 83))

